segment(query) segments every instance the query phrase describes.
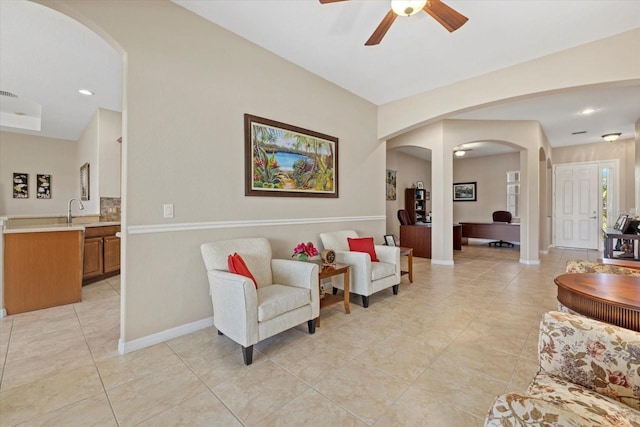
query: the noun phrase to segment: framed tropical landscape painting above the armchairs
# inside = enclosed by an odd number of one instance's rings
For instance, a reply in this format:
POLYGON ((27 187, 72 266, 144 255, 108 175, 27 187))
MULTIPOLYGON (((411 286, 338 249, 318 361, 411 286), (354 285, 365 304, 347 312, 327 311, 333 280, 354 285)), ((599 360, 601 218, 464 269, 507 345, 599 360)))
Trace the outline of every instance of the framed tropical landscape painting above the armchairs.
POLYGON ((338 138, 244 115, 245 195, 338 197, 338 138))

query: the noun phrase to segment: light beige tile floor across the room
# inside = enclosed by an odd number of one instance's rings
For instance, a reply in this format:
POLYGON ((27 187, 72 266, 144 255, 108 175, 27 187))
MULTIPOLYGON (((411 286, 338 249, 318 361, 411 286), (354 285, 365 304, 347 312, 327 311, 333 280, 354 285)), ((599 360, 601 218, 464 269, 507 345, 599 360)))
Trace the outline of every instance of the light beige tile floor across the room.
MULTIPOLYGON (((480 426, 496 395, 537 371, 553 277, 595 251, 464 246, 455 266, 414 258, 414 283, 353 297, 255 346, 253 365, 214 328, 117 352, 120 279, 83 301, 0 321, 0 425, 480 426)), ((406 263, 406 259, 403 258, 406 263)))

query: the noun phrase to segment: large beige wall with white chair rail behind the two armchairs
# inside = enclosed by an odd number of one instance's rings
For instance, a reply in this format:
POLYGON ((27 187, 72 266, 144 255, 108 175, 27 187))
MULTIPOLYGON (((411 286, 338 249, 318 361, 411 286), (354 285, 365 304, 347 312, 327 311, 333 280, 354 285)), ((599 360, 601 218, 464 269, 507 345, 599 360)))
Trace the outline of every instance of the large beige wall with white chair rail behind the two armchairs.
POLYGON ((124 347, 212 315, 203 242, 265 236, 289 258, 325 230, 382 241, 385 147, 374 105, 168 1, 46 4, 125 53, 124 347), (245 113, 339 138, 340 197, 245 197, 245 113), (175 218, 162 217, 164 203, 175 218))

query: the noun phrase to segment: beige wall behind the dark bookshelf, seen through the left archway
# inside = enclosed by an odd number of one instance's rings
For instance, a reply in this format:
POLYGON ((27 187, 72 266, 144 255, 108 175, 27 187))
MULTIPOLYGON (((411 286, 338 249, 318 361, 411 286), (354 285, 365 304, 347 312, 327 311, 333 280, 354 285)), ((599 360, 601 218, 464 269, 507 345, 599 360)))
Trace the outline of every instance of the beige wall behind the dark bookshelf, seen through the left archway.
MULTIPOLYGON (((422 181, 425 190, 431 192, 431 162, 397 150, 389 150, 387 151, 387 169, 397 171, 397 197, 396 200, 387 200, 386 234, 400 236, 398 209, 405 208, 405 189, 422 181)), ((431 201, 427 202, 427 210, 431 210, 431 201)))

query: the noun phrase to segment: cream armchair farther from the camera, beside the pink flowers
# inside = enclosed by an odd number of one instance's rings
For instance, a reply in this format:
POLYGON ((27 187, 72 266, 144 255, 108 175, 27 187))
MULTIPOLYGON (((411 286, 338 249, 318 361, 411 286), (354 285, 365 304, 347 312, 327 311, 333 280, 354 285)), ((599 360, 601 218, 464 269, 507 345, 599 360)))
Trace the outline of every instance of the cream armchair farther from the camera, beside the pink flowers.
MULTIPOLYGON (((353 230, 321 233, 320 240, 325 249, 336 252, 336 262, 351 265, 350 291, 362 296, 362 305, 369 307, 369 296, 387 288, 393 288, 398 294, 400 283, 400 248, 394 246, 375 245, 376 255, 380 262, 371 262, 369 254, 349 251, 347 238, 357 238, 353 230)), ((344 289, 341 277, 333 281, 336 287, 344 289)))

